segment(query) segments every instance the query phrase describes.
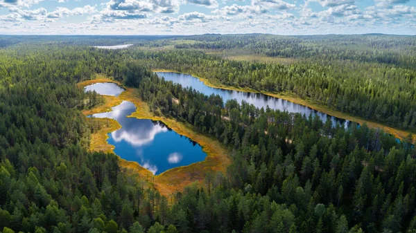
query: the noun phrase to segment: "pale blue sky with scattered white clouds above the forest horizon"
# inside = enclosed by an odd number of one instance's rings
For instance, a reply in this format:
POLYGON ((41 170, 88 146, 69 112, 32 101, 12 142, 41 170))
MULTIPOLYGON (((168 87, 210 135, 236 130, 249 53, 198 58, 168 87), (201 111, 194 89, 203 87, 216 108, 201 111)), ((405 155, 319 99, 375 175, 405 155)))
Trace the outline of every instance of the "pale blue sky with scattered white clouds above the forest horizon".
POLYGON ((416 35, 416 0, 0 0, 0 34, 416 35))

